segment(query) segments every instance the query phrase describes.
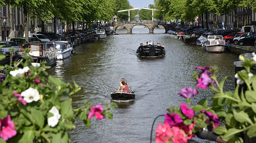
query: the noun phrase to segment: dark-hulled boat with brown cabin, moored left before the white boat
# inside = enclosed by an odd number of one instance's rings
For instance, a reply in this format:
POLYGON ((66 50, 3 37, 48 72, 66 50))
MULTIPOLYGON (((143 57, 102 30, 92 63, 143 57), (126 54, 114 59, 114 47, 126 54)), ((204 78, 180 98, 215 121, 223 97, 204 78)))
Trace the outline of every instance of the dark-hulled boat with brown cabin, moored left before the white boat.
POLYGON ((46 61, 46 66, 54 66, 57 62, 57 56, 54 52, 53 42, 47 43, 24 43, 20 47, 20 51, 15 53, 15 58, 22 58, 22 55, 25 54, 25 49, 29 48, 30 52, 28 53, 34 63, 41 63, 46 61))

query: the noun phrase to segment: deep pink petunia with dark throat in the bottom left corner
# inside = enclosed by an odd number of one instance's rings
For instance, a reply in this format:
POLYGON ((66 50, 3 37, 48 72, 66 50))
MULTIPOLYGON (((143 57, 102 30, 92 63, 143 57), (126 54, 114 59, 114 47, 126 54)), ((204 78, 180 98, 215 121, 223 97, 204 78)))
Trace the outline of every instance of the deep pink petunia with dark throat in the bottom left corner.
POLYGON ((14 129, 14 123, 11 121, 10 115, 7 117, 0 119, 0 137, 3 140, 8 140, 9 138, 16 135, 16 130, 14 129))

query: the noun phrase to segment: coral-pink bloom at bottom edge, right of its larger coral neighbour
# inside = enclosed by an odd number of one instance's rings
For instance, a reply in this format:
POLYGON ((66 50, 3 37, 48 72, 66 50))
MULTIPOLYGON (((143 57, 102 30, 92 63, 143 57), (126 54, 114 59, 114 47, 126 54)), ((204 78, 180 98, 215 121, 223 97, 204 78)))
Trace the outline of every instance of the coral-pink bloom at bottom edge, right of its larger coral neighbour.
POLYGON ((174 143, 187 143, 188 139, 184 137, 184 132, 179 127, 172 127, 173 137, 171 138, 174 143))

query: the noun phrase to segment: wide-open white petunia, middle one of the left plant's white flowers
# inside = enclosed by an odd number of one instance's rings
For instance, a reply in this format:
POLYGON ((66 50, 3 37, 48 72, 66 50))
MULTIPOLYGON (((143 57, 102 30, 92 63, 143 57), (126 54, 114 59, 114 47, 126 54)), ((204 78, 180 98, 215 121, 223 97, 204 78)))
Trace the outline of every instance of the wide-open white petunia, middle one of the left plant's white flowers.
POLYGON ((27 103, 31 103, 33 101, 38 101, 40 99, 39 92, 37 91, 37 89, 33 89, 32 87, 30 87, 29 89, 23 91, 21 93, 21 96, 24 97, 23 99, 27 103))

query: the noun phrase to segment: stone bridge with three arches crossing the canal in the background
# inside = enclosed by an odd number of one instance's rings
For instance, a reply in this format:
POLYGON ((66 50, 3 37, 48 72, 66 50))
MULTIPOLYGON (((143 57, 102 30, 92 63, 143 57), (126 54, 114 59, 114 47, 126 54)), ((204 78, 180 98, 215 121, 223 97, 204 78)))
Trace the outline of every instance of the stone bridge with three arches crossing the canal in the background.
POLYGON ((176 28, 172 24, 166 23, 121 23, 121 24, 114 24, 114 29, 116 30, 119 26, 124 26, 127 29, 127 33, 132 33, 132 28, 136 25, 144 25, 147 26, 150 33, 154 32, 156 26, 161 25, 165 29, 165 33, 169 30, 176 31, 176 28))

